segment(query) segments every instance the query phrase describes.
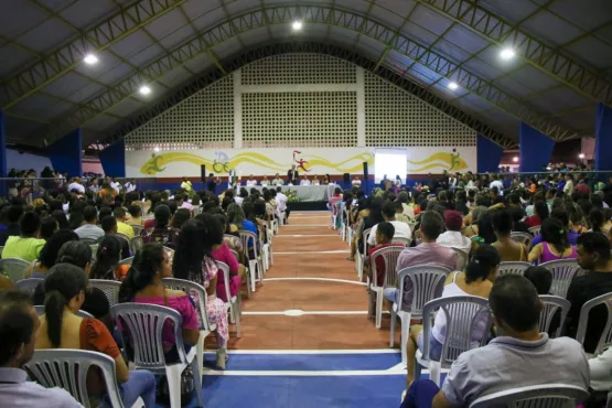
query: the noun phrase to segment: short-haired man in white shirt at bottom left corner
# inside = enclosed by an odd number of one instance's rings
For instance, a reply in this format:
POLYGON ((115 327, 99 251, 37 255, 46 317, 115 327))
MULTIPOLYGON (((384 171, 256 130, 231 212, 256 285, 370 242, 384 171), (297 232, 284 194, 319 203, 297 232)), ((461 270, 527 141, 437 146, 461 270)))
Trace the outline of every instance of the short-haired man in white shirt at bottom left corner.
POLYGON ((28 380, 24 365, 34 355, 41 322, 26 292, 0 297, 0 408, 83 408, 65 389, 45 388, 28 380))

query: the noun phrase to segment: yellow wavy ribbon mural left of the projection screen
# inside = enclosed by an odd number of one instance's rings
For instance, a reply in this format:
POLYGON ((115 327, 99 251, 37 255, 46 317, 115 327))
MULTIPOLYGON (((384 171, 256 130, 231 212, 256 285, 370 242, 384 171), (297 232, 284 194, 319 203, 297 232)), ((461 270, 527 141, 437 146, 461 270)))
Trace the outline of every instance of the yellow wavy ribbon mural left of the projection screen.
POLYGON ((356 154, 350 159, 333 163, 330 160, 319 157, 319 155, 304 155, 300 157, 301 152, 298 150, 293 151, 293 162, 292 163, 278 163, 269 159, 266 154, 257 152, 244 152, 238 153, 233 158, 229 158, 224 152, 215 152, 216 158, 214 160, 205 159, 202 155, 187 153, 187 152, 169 152, 169 153, 153 153, 151 159, 149 159, 141 168, 140 172, 146 175, 157 175, 163 173, 167 165, 170 163, 191 163, 195 165, 206 165, 210 171, 214 173, 228 173, 237 169, 240 164, 250 163, 260 167, 272 172, 287 171, 291 164, 296 164, 298 170, 303 170, 310 172, 315 165, 322 167, 322 172, 329 170, 336 170, 340 173, 354 173, 362 169, 363 162, 367 162, 368 165, 374 164, 374 155, 372 153, 361 153, 356 154))

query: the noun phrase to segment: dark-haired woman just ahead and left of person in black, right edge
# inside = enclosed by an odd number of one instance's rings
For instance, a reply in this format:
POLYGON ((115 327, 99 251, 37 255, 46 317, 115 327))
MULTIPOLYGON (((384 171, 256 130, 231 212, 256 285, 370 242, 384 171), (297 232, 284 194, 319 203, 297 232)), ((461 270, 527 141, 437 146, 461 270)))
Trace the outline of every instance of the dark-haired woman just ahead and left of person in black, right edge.
POLYGON ((549 262, 558 259, 576 259, 576 247, 568 243, 568 228, 558 218, 545 219, 541 224, 541 243, 529 253, 529 262, 549 262))

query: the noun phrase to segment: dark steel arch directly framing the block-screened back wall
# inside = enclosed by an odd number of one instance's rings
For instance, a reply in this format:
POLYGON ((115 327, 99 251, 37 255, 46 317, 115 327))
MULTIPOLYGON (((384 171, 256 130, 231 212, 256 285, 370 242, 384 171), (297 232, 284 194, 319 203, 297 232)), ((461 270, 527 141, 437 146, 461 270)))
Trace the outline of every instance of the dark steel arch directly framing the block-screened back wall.
MULTIPOLYGON (((493 140, 495 143, 500 144, 504 149, 516 149, 518 146, 515 140, 491 128, 490 126, 474 118, 473 116, 470 116, 469 114, 464 112, 461 108, 449 104, 448 101, 437 96, 436 94, 427 90, 422 86, 411 82, 406 77, 401 77, 397 73, 384 66, 377 67, 376 61, 369 60, 353 51, 348 51, 346 49, 339 47, 335 45, 313 43, 313 42, 291 42, 291 43, 278 43, 278 44, 265 45, 265 46, 260 46, 260 47, 247 51, 240 54, 239 56, 236 56, 227 61, 226 63, 224 63, 224 67, 226 71, 233 72, 253 62, 256 62, 272 55, 300 53, 300 52, 310 52, 310 53, 331 55, 337 58, 342 58, 344 61, 348 61, 355 65, 362 66, 366 71, 405 89, 406 92, 426 101, 427 104, 436 107, 443 114, 449 115, 450 117, 462 122, 469 128, 474 129, 479 135, 483 135, 484 137, 493 140)), ((127 120, 126 122, 121 124, 119 127, 110 131, 107 138, 103 140, 96 140, 89 143, 88 149, 99 150, 99 149, 103 149, 104 146, 106 144, 110 144, 117 140, 124 139, 131 131, 138 129, 139 127, 143 126, 148 121, 154 119, 159 115, 163 114, 165 110, 172 108, 173 106, 189 98, 195 93, 212 85, 214 82, 221 79, 223 76, 224 76, 224 73, 221 72, 218 68, 216 67, 211 68, 202 76, 182 86, 175 94, 170 95, 169 97, 164 98, 162 101, 155 104, 152 108, 147 109, 146 111, 140 112, 137 116, 132 117, 131 119, 127 120)))

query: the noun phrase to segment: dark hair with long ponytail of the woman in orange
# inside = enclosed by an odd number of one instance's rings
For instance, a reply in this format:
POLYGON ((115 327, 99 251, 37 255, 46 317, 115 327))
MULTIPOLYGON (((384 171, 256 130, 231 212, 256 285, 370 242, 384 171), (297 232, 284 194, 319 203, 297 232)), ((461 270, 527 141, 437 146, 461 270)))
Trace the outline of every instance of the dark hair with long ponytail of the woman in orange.
POLYGON ((87 289, 85 271, 71 264, 57 264, 49 271, 44 280, 44 313, 51 345, 60 347, 62 343, 62 321, 64 308, 87 289))

